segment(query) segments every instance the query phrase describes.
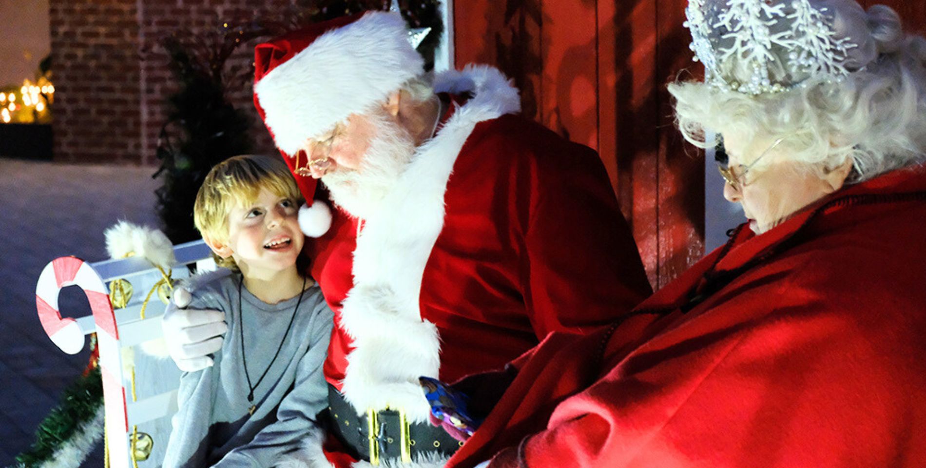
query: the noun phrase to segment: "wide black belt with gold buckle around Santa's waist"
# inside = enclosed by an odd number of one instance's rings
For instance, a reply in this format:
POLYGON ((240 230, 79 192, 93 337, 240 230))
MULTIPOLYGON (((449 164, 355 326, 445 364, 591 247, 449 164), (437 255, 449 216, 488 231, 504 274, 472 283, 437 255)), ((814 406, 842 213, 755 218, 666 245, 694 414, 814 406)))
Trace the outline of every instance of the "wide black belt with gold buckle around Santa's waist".
POLYGON ((438 452, 449 457, 463 445, 441 427, 430 423, 407 424, 400 411, 369 411, 357 416, 354 407, 331 385, 328 386, 328 405, 331 410, 328 431, 352 452, 352 456, 374 465, 386 459, 408 462, 421 452, 438 452))

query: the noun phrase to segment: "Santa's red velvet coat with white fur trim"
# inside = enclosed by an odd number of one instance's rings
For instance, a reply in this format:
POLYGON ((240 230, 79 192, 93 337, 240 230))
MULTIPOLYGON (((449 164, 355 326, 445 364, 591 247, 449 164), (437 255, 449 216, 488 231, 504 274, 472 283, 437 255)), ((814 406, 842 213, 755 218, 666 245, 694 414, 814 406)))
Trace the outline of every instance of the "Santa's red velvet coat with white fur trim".
POLYGON ((493 369, 650 293, 593 150, 514 115, 517 90, 497 70, 450 72, 435 87, 472 96, 419 148, 398 193, 368 220, 335 210, 331 231, 309 241, 335 310, 326 378, 361 410, 417 421, 428 412, 419 376, 493 369))

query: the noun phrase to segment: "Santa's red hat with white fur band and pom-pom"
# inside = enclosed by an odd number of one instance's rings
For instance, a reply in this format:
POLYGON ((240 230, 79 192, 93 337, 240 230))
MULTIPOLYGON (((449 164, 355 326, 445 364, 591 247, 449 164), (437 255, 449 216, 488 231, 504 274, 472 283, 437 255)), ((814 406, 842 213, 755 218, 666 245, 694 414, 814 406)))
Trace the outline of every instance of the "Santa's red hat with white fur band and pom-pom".
MULTIPOLYGON (((296 173, 294 157, 310 138, 382 103, 424 71, 407 37, 400 14, 369 11, 257 45, 254 104, 307 200, 316 181, 296 173)), ((313 211, 319 205, 300 210, 307 235, 324 234, 331 224, 328 207, 313 211)))

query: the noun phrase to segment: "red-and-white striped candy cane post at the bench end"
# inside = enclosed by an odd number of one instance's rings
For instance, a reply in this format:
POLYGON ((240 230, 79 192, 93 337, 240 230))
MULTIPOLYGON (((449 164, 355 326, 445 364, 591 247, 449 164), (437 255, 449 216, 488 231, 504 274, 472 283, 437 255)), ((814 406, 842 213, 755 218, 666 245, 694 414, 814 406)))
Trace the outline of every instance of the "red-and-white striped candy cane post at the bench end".
POLYGON ((77 354, 84 344, 83 332, 77 321, 61 318, 58 296, 65 286, 77 285, 87 296, 96 324, 100 349, 100 374, 103 377, 103 400, 106 412, 106 440, 109 441, 109 462, 114 468, 128 466, 129 418, 126 410, 125 387, 121 379, 121 346, 116 315, 106 285, 91 266, 76 257, 61 257, 45 265, 35 286, 35 306, 45 334, 62 351, 77 354))

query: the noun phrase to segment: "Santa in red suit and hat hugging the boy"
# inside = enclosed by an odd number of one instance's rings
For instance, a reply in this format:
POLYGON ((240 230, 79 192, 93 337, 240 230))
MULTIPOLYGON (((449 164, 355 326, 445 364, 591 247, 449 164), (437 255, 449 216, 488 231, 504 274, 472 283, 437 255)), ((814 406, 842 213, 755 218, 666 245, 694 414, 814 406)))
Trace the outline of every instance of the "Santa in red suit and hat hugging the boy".
MULTIPOLYGON (((498 70, 429 80, 405 21, 385 12, 260 44, 256 69, 255 104, 310 200, 311 273, 335 311, 330 444, 325 457, 320 435, 307 441, 307 464, 442 465, 459 444, 428 424, 420 376, 497 368, 649 295, 600 159, 519 117, 498 70), (311 201, 319 179, 336 209, 311 201)), ((208 365, 219 317, 169 311, 181 367, 208 365)))

